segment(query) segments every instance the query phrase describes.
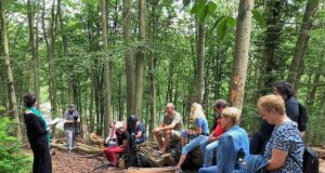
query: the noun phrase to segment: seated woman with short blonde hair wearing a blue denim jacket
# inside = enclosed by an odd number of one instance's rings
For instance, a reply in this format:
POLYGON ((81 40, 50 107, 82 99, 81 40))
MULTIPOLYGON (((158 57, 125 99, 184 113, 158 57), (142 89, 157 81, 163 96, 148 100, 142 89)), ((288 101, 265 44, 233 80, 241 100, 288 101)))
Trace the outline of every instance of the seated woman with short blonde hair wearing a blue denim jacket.
POLYGON ((244 172, 243 161, 249 156, 249 142, 246 131, 237 125, 240 110, 226 107, 221 114, 221 135, 217 148, 217 165, 199 169, 199 173, 244 172))

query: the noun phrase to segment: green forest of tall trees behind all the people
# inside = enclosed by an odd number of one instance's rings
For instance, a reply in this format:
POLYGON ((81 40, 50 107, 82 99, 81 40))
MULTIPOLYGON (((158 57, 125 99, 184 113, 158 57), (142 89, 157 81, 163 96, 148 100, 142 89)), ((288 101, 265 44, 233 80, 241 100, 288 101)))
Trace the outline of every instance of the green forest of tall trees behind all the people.
POLYGON ((132 114, 151 132, 167 103, 186 125, 200 103, 212 123, 224 98, 251 135, 256 103, 278 80, 307 108, 304 143, 325 144, 322 0, 0 0, 0 144, 15 144, 1 150, 28 143, 27 92, 51 118, 76 104, 82 131, 102 137, 132 114))

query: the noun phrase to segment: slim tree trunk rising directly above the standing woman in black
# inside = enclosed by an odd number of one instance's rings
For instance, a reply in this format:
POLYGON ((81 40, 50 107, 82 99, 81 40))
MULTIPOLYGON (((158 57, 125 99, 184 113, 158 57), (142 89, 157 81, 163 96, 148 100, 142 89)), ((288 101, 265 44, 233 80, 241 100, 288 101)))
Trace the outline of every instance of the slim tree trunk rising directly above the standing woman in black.
MULTIPOLYGON (((35 19, 35 3, 31 2, 31 0, 27 1, 27 17, 28 17, 28 29, 29 29, 29 44, 30 44, 30 51, 32 56, 32 68, 34 68, 34 92, 36 94, 36 99, 39 101, 39 58, 38 53, 36 49, 36 41, 35 41, 35 30, 34 30, 34 19, 35 19)), ((38 105, 39 106, 39 105, 38 105)))

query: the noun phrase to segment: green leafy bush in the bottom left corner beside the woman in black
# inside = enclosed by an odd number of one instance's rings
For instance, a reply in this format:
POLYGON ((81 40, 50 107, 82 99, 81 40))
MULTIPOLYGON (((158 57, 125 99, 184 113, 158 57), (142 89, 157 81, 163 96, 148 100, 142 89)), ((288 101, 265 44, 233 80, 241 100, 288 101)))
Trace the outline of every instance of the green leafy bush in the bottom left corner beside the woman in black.
POLYGON ((31 170, 31 157, 26 157, 17 138, 10 135, 12 121, 0 118, 0 172, 28 172, 31 170))

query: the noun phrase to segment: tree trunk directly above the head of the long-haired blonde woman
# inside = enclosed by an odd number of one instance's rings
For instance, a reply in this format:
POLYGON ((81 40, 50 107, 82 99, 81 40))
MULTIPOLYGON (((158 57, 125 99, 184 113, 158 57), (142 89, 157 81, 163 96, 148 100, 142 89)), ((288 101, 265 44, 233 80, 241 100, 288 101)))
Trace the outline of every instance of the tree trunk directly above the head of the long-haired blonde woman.
POLYGON ((203 92, 205 85, 204 67, 205 67, 205 24, 198 23, 197 27, 197 61, 196 61, 196 80, 195 80, 195 99, 197 103, 203 102, 203 92))

